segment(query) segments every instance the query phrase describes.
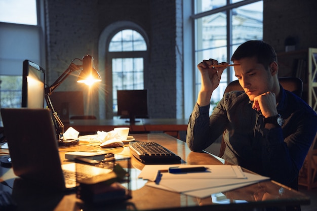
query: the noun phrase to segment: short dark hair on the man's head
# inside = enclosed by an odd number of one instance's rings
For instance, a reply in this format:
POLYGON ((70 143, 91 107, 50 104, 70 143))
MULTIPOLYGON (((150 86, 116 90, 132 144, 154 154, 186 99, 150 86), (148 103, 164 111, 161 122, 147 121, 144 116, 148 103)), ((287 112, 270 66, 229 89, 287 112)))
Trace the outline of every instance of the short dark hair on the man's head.
POLYGON ((247 57, 256 57, 257 62, 265 68, 272 62, 278 62, 273 47, 262 40, 250 40, 241 44, 231 57, 231 61, 240 60, 247 57))

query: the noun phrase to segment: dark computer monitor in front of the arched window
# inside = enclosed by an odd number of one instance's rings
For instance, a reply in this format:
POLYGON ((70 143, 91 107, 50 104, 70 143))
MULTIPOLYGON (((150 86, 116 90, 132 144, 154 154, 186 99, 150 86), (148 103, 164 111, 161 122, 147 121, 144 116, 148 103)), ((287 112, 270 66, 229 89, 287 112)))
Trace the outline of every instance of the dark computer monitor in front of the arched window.
POLYGON ((136 122, 135 118, 148 118, 147 90, 117 90, 117 114, 136 122))

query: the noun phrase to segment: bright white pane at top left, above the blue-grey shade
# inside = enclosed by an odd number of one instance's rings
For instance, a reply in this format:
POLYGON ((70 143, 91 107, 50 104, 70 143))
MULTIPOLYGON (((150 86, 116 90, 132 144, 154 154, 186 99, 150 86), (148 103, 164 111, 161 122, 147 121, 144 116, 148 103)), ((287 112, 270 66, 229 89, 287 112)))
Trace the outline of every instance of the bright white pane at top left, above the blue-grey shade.
POLYGON ((0 21, 37 25, 36 0, 0 0, 0 21))

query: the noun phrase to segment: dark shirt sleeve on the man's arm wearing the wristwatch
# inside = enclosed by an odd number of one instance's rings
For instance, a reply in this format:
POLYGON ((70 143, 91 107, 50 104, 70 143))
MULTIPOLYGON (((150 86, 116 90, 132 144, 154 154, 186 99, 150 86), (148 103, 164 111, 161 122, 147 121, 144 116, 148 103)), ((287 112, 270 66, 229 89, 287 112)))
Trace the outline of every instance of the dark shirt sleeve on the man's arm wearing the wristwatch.
POLYGON ((262 165, 270 178, 290 185, 298 176, 311 142, 316 134, 316 116, 302 114, 294 122, 296 130, 287 134, 290 128, 264 129, 262 143, 262 165))

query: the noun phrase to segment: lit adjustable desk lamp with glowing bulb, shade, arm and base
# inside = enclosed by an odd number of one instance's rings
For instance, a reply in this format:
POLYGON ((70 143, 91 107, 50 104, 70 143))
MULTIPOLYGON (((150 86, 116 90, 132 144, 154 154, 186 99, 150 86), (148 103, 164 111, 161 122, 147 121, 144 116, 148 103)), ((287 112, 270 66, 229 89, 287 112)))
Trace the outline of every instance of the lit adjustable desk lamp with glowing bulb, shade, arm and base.
POLYGON ((93 85, 93 83, 95 82, 101 81, 101 77, 94 67, 94 58, 90 55, 86 55, 83 57, 82 60, 78 58, 73 59, 68 68, 61 74, 61 76, 59 76, 59 78, 57 78, 57 80, 50 87, 45 88, 45 100, 47 102, 48 108, 52 111, 53 122, 56 129, 56 138, 60 147, 77 145, 79 142, 78 140, 62 139, 62 136, 64 134, 64 124, 55 112, 50 96, 52 95, 53 91, 59 85, 61 85, 66 77, 70 75, 71 72, 77 70, 81 70, 77 78, 77 82, 79 83, 86 83, 86 85, 90 86, 93 85), (80 60, 83 64, 76 65, 73 63, 74 60, 80 60))

